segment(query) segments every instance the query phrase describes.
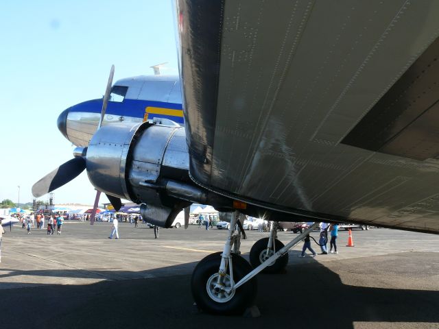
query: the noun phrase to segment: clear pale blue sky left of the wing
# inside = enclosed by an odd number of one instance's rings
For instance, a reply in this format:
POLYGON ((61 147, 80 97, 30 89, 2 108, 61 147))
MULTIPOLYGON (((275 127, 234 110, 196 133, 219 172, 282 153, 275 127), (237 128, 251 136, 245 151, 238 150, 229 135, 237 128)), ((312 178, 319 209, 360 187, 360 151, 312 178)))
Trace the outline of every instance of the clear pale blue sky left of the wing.
MULTIPOLYGON (((162 62, 168 62, 162 73, 178 74, 173 2, 16 0, 0 6, 0 201, 32 202, 32 185, 73 158, 58 115, 102 97, 111 64, 113 83, 152 75, 150 66, 162 62)), ((55 204, 94 199, 85 171, 54 191, 55 204)))

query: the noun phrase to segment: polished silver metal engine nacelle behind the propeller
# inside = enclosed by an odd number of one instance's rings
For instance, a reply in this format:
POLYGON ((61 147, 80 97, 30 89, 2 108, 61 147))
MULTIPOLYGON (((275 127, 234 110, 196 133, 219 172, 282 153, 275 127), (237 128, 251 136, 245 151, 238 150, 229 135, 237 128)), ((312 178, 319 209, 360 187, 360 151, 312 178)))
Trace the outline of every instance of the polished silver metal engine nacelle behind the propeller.
POLYGON ((151 188, 161 175, 189 180, 185 128, 170 125, 108 125, 91 138, 88 178, 99 191, 141 203, 156 203, 151 188))

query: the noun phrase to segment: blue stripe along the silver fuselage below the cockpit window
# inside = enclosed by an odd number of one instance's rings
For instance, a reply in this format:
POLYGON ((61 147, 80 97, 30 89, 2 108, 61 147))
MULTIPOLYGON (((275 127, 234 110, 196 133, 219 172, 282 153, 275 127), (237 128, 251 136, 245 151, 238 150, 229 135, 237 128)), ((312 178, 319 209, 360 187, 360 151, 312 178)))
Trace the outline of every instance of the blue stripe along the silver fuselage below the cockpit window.
MULTIPOLYGON (((134 117, 143 119, 145 115, 145 108, 171 108, 172 110, 182 110, 182 104, 166 103, 163 101, 146 101, 140 99, 124 99, 122 102, 109 101, 107 105, 106 114, 134 117)), ((100 113, 102 110, 102 99, 92 99, 76 104, 69 109, 69 112, 87 112, 100 113)), ((183 123, 182 117, 174 117, 164 114, 150 114, 151 117, 165 118, 176 123, 183 123)))

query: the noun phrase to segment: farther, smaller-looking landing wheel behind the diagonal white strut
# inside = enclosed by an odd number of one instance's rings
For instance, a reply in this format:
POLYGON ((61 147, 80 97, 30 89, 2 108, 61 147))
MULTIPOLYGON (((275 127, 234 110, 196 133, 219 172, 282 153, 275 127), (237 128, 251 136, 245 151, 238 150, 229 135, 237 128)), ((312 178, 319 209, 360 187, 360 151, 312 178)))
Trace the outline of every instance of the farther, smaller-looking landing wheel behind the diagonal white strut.
MULTIPOLYGON (((250 264, 252 267, 258 267, 265 260, 268 260, 271 256, 274 255, 279 249, 283 248, 284 245, 278 239, 274 240, 274 249, 272 246, 268 247, 269 238, 263 238, 256 243, 254 243, 252 249, 250 249, 250 264)), ((278 258, 274 264, 268 265, 265 269, 262 270, 262 273, 279 273, 288 263, 288 254, 285 253, 281 258, 278 258)))

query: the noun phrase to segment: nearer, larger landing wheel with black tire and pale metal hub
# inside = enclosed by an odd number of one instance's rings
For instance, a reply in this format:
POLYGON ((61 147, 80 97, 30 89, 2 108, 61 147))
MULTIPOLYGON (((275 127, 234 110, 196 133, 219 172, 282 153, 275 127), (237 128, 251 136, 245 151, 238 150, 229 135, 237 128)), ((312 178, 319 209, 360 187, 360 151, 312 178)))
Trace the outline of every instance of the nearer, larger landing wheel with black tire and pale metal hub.
POLYGON ((230 255, 230 266, 225 274, 218 272, 222 252, 203 258, 195 267, 191 278, 193 299, 197 306, 207 313, 221 315, 239 315, 252 305, 257 295, 257 280, 252 278, 239 289, 230 289, 252 267, 239 255, 230 255), (230 274, 230 269, 232 274, 230 274), (221 284, 218 284, 218 281, 221 284), (225 289, 224 289, 225 288, 225 289))

